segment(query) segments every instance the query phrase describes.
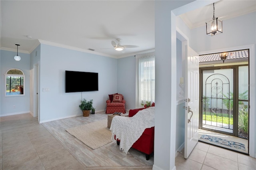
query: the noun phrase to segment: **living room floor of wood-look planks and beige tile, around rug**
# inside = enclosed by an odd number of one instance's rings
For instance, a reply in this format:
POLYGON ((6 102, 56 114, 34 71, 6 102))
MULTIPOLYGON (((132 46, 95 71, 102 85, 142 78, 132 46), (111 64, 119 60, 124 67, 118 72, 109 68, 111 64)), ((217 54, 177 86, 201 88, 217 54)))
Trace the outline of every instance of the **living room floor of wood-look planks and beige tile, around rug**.
MULTIPOLYGON (((107 119, 104 112, 37 123, 30 114, 1 118, 1 169, 144 169, 151 170, 154 154, 131 148, 129 154, 111 142, 95 150, 65 129, 107 119), (17 141, 18 142, 14 142, 17 141), (25 156, 29 155, 29 156, 25 156)), ((107 126, 107 125, 106 125, 107 126)))

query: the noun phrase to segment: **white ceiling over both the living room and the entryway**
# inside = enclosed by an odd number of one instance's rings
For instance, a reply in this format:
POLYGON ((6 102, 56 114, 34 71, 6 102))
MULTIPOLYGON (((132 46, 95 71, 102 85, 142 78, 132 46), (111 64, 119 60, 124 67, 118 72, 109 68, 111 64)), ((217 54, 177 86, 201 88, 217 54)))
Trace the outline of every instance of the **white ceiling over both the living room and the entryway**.
MULTIPOLYGON (((256 0, 215 3, 215 17, 221 20, 254 11, 256 0)), ((212 15, 210 4, 180 17, 192 29, 204 26, 212 15)), ((119 58, 154 49, 154 34, 153 0, 1 0, 1 49, 16 51, 17 43, 19 52, 31 53, 40 40, 119 58), (111 41, 117 38, 121 45, 139 47, 116 51, 111 41)))

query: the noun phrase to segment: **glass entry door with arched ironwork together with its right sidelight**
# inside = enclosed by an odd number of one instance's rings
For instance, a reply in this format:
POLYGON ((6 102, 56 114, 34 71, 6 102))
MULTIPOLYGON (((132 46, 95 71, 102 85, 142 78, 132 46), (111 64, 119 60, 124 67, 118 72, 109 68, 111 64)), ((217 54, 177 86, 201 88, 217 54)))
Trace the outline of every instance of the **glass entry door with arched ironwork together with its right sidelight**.
POLYGON ((248 65, 200 70, 200 128, 248 139, 248 65))

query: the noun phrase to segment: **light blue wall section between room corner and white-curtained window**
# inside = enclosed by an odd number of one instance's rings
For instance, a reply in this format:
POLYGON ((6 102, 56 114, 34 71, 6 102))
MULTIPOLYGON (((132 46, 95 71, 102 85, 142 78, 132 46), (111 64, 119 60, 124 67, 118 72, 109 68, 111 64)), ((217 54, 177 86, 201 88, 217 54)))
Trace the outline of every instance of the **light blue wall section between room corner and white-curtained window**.
POLYGON ((118 59, 117 89, 118 93, 124 95, 126 109, 135 108, 135 75, 136 57, 130 56, 118 59))

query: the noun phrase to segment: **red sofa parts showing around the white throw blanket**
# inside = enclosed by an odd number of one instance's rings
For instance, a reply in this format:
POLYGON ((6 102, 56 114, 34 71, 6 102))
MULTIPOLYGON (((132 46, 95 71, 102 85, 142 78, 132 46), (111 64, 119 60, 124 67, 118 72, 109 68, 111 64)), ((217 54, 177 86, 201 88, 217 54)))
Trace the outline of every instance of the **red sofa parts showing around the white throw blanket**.
MULTIPOLYGON (((152 106, 155 106, 155 103, 152 103, 152 106)), ((136 113, 138 113, 138 111, 143 109, 145 108, 131 109, 129 111, 129 117, 133 117, 136 115, 136 113)), ((154 152, 154 133, 155 127, 146 128, 140 138, 132 145, 132 148, 146 154, 146 160, 149 160, 150 154, 154 152)), ((120 140, 116 139, 116 143, 119 145, 120 140)))

